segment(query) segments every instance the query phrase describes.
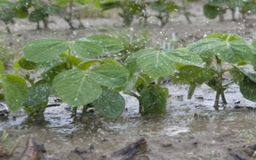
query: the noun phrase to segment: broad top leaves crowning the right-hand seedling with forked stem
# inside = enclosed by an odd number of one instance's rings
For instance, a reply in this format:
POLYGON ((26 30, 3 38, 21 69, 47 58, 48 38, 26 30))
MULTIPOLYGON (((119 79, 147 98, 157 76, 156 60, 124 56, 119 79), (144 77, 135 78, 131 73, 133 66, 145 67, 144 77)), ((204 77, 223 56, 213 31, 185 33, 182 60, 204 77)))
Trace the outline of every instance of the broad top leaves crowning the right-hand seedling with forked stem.
POLYGON ((232 35, 227 36, 226 40, 224 38, 206 38, 189 45, 188 49, 206 57, 212 57, 212 54, 215 54, 228 63, 247 61, 252 55, 252 47, 232 35))

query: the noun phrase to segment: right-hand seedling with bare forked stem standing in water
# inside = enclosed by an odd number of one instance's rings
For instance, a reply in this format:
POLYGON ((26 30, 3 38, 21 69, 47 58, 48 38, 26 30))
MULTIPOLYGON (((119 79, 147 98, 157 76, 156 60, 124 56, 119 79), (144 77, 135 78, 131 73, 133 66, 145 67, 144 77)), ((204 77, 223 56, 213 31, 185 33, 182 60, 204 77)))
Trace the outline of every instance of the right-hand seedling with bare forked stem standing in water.
POLYGON ((181 67, 173 76, 173 81, 190 84, 189 99, 196 85, 206 82, 216 91, 214 108, 219 109, 220 97, 225 107, 227 101, 224 91, 229 84, 234 83, 234 80, 224 83, 223 74, 230 72, 234 75, 236 65, 243 65, 244 61, 249 61, 253 56, 252 46, 236 34, 217 33, 189 45, 188 49, 202 57, 205 67, 181 67), (213 60, 215 60, 214 63, 213 60))

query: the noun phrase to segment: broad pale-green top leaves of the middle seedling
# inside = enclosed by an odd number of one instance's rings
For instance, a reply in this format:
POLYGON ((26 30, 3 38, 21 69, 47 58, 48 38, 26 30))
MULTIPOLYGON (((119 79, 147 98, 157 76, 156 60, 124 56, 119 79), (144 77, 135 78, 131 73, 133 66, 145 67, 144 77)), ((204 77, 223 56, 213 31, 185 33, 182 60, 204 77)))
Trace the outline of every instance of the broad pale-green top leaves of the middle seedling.
MULTIPOLYGON (((131 60, 136 61, 136 65, 138 65, 143 72, 148 74, 148 76, 152 77, 170 76, 176 70, 176 63, 188 65, 202 62, 200 56, 184 49, 175 49, 173 51, 143 49, 132 54, 131 60)), ((130 63, 131 60, 128 58, 130 63)), ((125 61, 125 63, 127 64, 127 61, 125 61)), ((134 62, 132 65, 134 65, 134 62)), ((136 65, 134 65, 134 67, 136 67, 136 65)))

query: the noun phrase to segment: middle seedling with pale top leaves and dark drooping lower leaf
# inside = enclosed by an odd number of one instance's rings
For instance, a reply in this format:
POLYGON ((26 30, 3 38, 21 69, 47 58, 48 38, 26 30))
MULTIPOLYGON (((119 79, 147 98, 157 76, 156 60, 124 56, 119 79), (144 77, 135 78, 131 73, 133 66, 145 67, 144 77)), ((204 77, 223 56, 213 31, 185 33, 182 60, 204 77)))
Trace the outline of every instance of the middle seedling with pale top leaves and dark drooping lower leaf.
POLYGON ((161 87, 163 78, 173 75, 180 66, 200 63, 200 56, 186 49, 143 49, 135 52, 124 62, 131 72, 129 83, 124 88, 125 93, 138 99, 140 113, 161 114, 166 108, 168 97, 168 89, 161 87))

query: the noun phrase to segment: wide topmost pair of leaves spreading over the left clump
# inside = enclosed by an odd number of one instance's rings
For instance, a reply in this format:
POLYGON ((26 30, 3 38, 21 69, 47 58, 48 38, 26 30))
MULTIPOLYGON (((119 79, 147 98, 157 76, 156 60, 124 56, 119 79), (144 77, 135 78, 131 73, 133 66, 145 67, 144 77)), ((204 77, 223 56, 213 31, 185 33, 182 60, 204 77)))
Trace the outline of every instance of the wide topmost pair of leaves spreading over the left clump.
POLYGON ((57 38, 42 38, 33 40, 25 45, 23 51, 29 61, 47 62, 58 58, 63 52, 70 49, 72 54, 81 58, 99 56, 102 54, 102 47, 94 42, 81 40, 66 41, 57 38))

